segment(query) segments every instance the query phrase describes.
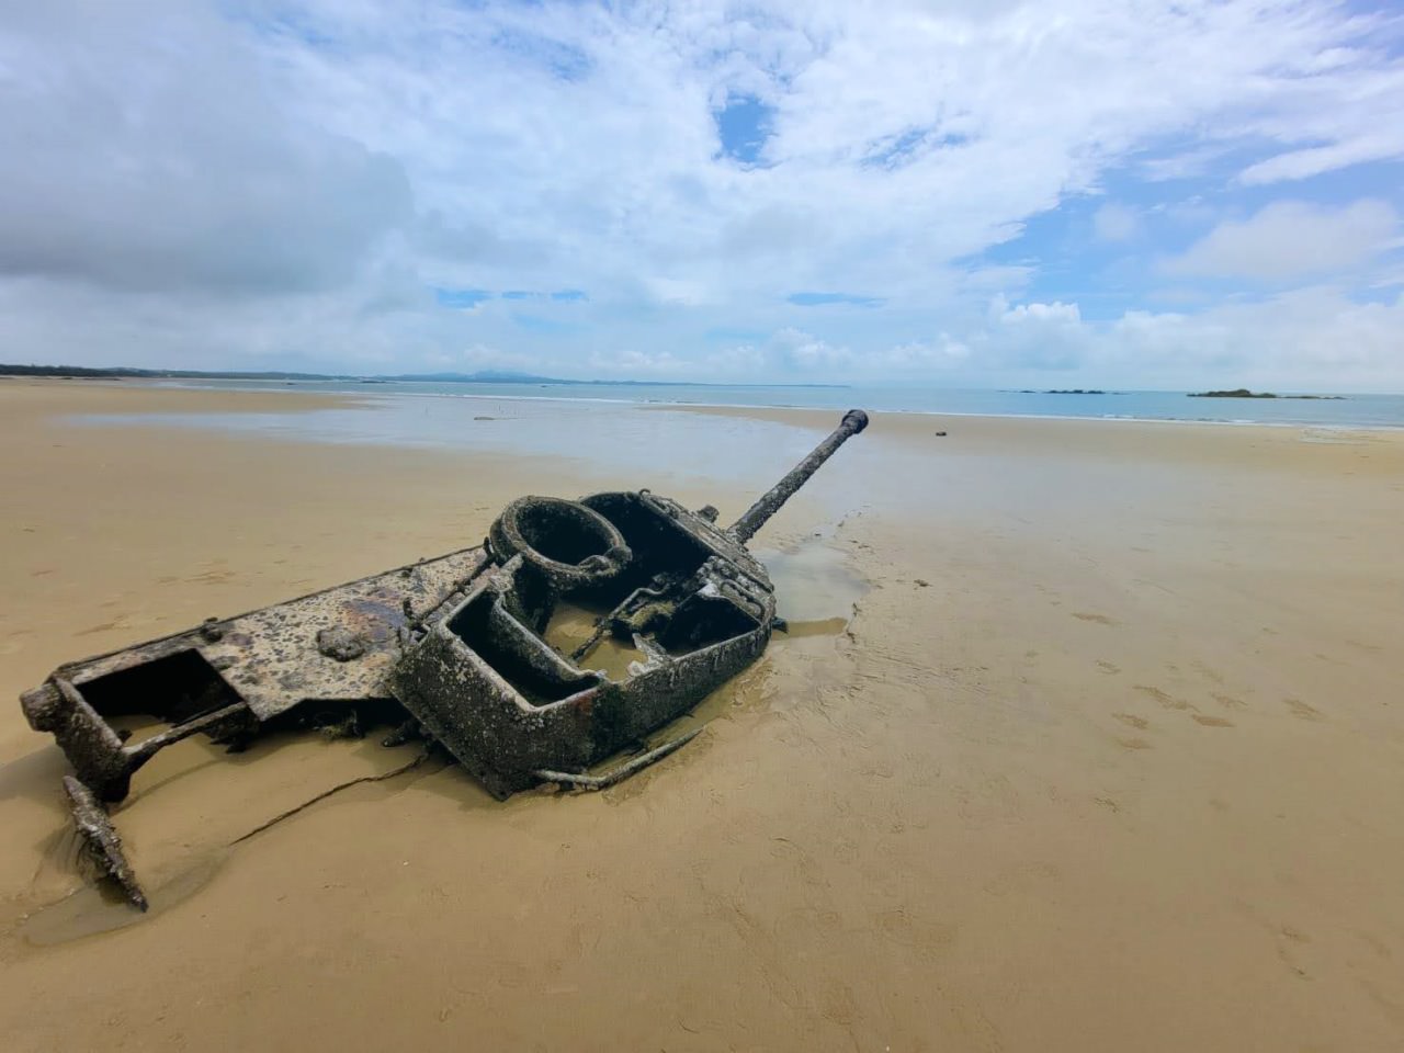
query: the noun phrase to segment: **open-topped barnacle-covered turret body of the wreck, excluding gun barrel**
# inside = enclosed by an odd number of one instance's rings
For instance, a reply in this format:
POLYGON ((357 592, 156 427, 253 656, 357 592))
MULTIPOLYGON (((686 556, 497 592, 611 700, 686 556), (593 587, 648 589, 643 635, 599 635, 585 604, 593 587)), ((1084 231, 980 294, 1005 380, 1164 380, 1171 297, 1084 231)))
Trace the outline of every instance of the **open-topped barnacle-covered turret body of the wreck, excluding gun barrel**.
POLYGON ((709 521, 647 493, 580 504, 619 531, 628 573, 562 581, 535 550, 517 552, 425 626, 392 678, 396 698, 500 797, 640 741, 755 661, 771 636, 769 577, 709 521), (546 639, 556 605, 581 598, 604 629, 632 637, 640 657, 625 674, 546 639))

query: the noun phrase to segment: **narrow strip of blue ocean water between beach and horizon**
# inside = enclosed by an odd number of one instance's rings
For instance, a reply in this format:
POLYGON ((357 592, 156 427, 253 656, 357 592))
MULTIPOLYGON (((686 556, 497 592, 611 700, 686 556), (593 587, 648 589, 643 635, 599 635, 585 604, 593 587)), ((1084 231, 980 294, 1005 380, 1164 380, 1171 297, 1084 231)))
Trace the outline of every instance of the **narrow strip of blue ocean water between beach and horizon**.
POLYGON ((1404 395, 1341 399, 1191 399, 1185 392, 1049 395, 920 386, 782 386, 654 383, 428 383, 407 380, 180 380, 183 388, 337 392, 361 396, 470 396, 680 406, 774 406, 990 417, 1081 417, 1404 428, 1404 395))

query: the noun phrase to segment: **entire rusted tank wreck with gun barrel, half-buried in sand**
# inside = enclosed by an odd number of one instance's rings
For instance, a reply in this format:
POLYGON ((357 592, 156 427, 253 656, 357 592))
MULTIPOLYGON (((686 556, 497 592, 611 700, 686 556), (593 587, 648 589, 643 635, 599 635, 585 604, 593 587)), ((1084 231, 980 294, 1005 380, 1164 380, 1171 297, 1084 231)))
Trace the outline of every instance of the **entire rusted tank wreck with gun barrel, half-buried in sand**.
POLYGON ((333 712, 439 744, 498 799, 541 782, 608 785, 691 736, 587 769, 765 650, 774 587, 746 545, 866 425, 862 410, 844 414, 729 528, 712 507, 647 490, 522 497, 479 548, 60 665, 21 696, 25 717, 63 748, 74 823, 143 910, 101 802, 122 800, 143 764, 194 734, 239 748, 333 712), (150 719, 166 727, 131 741, 124 724, 150 719))

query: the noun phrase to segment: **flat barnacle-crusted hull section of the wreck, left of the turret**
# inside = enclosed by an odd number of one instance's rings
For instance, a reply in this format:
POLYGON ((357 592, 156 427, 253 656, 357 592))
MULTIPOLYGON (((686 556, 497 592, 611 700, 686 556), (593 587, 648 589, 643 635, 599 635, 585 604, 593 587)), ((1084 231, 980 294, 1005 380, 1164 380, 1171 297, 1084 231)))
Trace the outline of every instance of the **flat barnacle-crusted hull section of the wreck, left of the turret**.
POLYGON ((65 663, 20 703, 84 783, 102 800, 121 800, 138 768, 191 734, 239 741, 307 705, 393 698, 389 677, 409 626, 432 616, 486 564, 482 548, 451 552, 65 663), (132 743, 128 717, 168 727, 132 743))

